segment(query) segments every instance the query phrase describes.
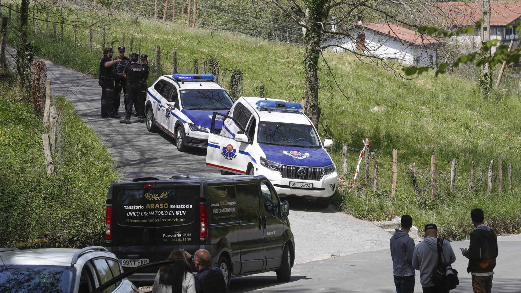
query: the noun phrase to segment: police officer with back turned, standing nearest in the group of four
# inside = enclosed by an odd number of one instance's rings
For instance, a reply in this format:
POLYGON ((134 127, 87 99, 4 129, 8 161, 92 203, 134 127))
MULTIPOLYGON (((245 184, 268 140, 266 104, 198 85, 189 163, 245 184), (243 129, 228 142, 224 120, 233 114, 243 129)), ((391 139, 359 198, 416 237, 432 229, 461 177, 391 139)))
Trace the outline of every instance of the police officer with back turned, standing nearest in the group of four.
POLYGON ((125 70, 123 70, 123 77, 127 80, 127 93, 125 94, 125 119, 119 121, 120 123, 130 124, 130 116, 132 115, 132 103, 134 103, 134 107, 136 112, 139 114, 139 122, 145 122, 143 119, 143 110, 141 109, 141 104, 139 103, 140 95, 141 95, 141 80, 143 79, 143 66, 138 62, 139 55, 137 53, 132 53, 130 56, 131 63, 125 70))

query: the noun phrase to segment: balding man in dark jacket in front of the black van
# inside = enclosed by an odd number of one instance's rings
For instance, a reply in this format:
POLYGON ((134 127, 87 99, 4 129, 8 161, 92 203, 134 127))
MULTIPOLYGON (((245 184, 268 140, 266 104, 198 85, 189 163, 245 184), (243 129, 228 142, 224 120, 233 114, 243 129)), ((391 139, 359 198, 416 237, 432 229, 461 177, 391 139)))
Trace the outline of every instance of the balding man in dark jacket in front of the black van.
POLYGON ((210 252, 205 249, 199 249, 195 251, 193 256, 188 252, 186 253, 194 262, 197 271, 199 271, 195 275, 195 291, 197 293, 225 293, 228 276, 225 277, 218 267, 210 265, 210 252))

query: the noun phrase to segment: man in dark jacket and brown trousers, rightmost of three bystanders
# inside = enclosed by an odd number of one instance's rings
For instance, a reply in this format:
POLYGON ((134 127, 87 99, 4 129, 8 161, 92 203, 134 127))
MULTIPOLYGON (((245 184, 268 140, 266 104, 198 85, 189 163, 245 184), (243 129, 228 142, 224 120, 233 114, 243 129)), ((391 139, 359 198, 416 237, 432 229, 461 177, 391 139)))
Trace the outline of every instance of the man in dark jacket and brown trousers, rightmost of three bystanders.
POLYGON ((463 256, 468 259, 467 272, 472 274, 474 293, 490 293, 495 258, 498 257, 498 240, 492 229, 483 224, 483 210, 472 210, 470 218, 476 229, 470 232, 469 248, 462 251, 463 256))

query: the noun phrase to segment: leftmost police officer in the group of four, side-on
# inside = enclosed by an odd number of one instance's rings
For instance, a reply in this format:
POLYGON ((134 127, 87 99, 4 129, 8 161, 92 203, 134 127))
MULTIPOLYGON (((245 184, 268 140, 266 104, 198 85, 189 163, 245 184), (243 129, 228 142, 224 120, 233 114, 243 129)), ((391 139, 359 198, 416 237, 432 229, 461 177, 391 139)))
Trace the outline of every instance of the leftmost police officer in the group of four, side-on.
POLYGON ((100 80, 101 86, 101 117, 102 118, 121 118, 118 111, 114 108, 114 65, 119 59, 111 60, 112 48, 103 50, 103 57, 100 61, 100 80))

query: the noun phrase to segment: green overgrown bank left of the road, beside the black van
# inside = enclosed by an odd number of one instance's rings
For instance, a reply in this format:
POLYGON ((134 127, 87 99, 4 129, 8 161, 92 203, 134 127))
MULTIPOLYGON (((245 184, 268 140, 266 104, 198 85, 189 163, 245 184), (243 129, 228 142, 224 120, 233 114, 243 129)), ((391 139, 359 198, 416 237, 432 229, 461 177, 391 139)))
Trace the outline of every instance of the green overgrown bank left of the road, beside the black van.
POLYGON ((14 78, 0 80, 0 247, 85 247, 104 243, 105 201, 115 163, 73 106, 56 98, 61 152, 47 177, 41 118, 21 103, 14 78))

